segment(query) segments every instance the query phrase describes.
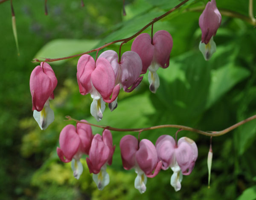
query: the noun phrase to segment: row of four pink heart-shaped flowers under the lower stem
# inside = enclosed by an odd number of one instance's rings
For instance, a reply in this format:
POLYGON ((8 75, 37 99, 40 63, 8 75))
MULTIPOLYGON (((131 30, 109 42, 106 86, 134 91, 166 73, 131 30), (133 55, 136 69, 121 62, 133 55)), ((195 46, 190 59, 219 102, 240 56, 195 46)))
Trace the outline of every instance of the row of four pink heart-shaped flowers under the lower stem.
MULTIPOLYGON (((86 122, 81 120, 81 122, 86 122)), ((115 146, 113 146, 110 130, 103 130, 102 136, 93 135, 90 125, 78 122, 65 126, 59 137, 58 157, 62 162, 72 162, 73 175, 79 179, 83 172, 80 158, 88 155, 86 162, 93 180, 99 190, 109 183, 106 172, 111 165, 115 146)), ((148 139, 141 141, 132 135, 122 137, 119 144, 122 164, 126 170, 133 169, 137 173, 134 186, 140 193, 146 191, 147 177, 155 177, 161 169, 171 168, 173 171, 171 185, 175 191, 180 190, 183 175, 189 175, 198 157, 198 148, 192 139, 182 137, 175 141, 172 136, 162 135, 154 145, 148 139)))

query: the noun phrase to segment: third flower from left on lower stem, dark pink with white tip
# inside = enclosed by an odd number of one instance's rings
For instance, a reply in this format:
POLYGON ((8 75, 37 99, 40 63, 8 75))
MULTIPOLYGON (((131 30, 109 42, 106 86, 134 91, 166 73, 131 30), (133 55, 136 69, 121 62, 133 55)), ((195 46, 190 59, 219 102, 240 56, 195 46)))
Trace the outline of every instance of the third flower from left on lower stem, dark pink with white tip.
POLYGON ((126 170, 134 168, 137 173, 134 187, 144 193, 147 177, 153 178, 161 170, 162 162, 157 158, 155 146, 148 139, 139 143, 134 136, 126 135, 120 140, 120 150, 123 167, 126 170))

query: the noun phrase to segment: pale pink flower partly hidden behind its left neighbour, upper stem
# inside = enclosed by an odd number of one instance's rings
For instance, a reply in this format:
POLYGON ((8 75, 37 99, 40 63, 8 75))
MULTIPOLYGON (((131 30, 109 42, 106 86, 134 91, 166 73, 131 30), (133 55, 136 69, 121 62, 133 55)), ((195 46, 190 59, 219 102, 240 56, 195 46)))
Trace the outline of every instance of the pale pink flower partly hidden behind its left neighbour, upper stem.
MULTIPOLYGON (((124 52, 120 62, 118 61, 119 57, 117 53, 113 50, 103 52, 99 58, 106 58, 110 62, 115 73, 115 85, 119 84, 120 89, 123 87, 125 92, 131 92, 142 81, 143 76, 140 76, 142 71, 142 61, 136 52, 124 52)), ((116 107, 117 98, 109 104, 111 111, 116 107)))

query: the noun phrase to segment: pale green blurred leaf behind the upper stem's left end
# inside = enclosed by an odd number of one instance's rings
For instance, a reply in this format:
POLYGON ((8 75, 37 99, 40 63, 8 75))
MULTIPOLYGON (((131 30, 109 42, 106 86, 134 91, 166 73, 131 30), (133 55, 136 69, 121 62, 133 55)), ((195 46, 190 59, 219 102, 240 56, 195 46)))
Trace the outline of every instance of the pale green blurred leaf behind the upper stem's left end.
MULTIPOLYGON (((90 51, 93 49, 98 40, 73 40, 73 39, 56 39, 44 45, 35 55, 35 58, 62 58, 78 53, 90 51)), ((55 61, 54 64, 60 65, 67 60, 55 61)))

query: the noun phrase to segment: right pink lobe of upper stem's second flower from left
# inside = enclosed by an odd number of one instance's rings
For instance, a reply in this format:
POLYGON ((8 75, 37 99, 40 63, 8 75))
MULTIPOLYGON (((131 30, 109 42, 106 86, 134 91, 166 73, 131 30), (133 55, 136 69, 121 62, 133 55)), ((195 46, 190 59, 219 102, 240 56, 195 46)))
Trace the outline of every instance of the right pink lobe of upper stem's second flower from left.
MULTIPOLYGON (((102 99, 107 101, 114 101, 110 99, 115 86, 115 74, 109 61, 105 58, 98 58, 96 61, 96 69, 92 72, 91 80, 93 86, 101 94, 102 99)), ((107 102, 110 103, 110 102, 107 102)))

